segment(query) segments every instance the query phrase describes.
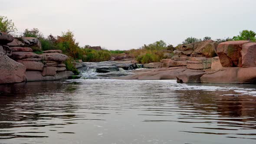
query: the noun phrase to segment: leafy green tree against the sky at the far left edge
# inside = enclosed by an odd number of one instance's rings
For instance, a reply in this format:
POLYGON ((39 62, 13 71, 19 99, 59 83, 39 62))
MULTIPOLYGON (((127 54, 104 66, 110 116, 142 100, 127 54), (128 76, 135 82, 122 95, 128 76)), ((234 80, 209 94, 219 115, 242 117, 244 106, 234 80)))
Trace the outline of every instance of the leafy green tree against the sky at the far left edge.
POLYGON ((14 34, 17 29, 12 20, 9 20, 6 16, 0 16, 0 31, 14 34))

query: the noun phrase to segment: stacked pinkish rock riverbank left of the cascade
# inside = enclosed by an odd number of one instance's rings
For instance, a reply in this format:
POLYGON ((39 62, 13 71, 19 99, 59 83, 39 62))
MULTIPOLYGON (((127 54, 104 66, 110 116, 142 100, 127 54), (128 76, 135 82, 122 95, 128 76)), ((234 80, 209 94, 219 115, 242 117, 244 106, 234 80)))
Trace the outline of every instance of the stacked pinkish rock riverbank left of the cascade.
POLYGON ((68 56, 61 50, 43 51, 39 39, 33 37, 13 38, 0 32, 0 84, 68 79, 73 72, 63 63, 68 56))

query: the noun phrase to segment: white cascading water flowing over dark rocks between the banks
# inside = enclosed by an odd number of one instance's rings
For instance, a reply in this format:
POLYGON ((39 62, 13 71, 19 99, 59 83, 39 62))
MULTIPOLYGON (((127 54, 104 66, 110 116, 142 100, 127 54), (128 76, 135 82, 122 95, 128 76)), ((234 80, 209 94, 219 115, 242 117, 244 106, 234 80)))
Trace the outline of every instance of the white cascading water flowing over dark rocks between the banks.
POLYGON ((142 69, 141 64, 119 64, 117 62, 84 62, 86 67, 79 68, 81 79, 110 79, 134 74, 135 69, 142 69))

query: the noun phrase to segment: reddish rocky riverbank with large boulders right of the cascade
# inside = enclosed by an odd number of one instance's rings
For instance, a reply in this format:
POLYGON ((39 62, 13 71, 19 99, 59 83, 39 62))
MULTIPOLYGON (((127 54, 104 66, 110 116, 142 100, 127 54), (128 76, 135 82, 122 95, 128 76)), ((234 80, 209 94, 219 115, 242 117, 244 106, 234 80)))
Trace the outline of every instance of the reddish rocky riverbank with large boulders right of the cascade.
POLYGON ((172 59, 144 64, 146 70, 115 79, 177 79, 181 83, 256 82, 256 43, 212 40, 180 45, 172 59))

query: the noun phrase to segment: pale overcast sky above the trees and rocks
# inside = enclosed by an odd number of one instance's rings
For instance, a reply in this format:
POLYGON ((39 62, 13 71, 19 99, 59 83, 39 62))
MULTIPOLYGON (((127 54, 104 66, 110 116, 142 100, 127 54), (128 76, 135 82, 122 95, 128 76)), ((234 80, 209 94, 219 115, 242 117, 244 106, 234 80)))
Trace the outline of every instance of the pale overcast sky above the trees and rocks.
POLYGON ((38 28, 57 36, 70 29, 80 46, 106 49, 256 31, 256 0, 0 0, 0 6, 19 32, 38 28))

